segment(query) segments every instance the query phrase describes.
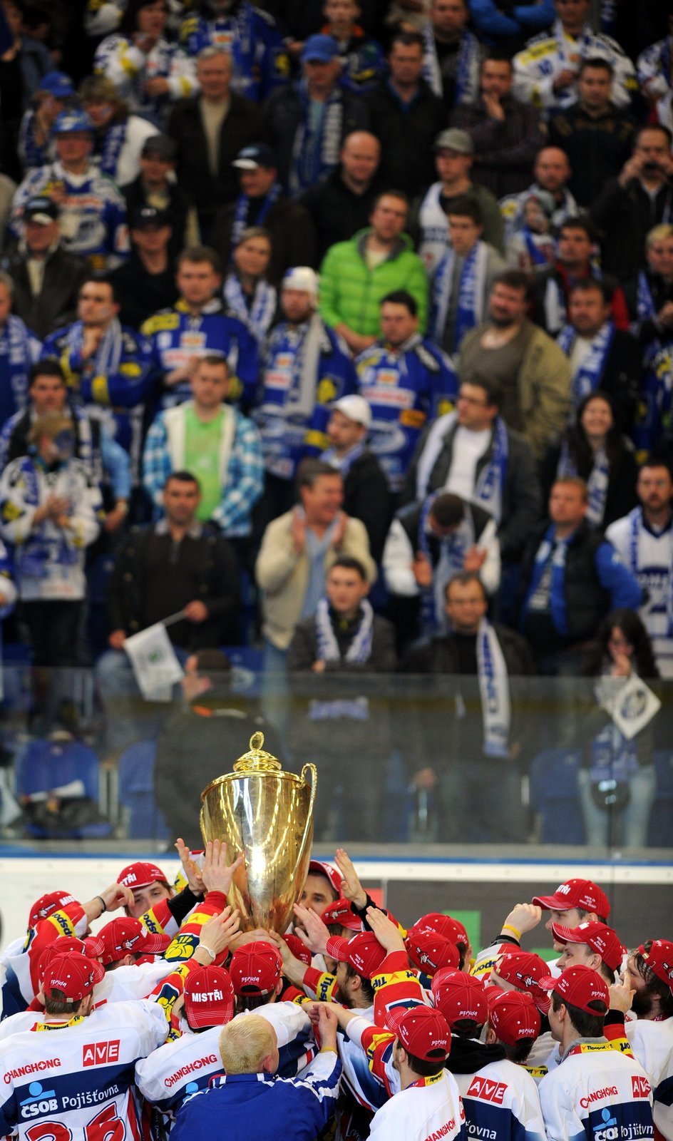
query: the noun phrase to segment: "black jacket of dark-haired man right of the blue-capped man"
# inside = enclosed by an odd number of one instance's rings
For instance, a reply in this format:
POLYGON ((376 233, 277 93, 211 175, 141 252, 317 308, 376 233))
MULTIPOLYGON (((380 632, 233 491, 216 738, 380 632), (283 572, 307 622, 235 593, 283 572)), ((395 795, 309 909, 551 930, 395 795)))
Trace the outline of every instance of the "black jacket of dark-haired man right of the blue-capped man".
POLYGON ((387 79, 365 97, 371 130, 381 143, 379 177, 408 195, 436 180, 432 144, 446 127, 443 100, 424 80, 420 84, 419 94, 404 106, 387 79))

